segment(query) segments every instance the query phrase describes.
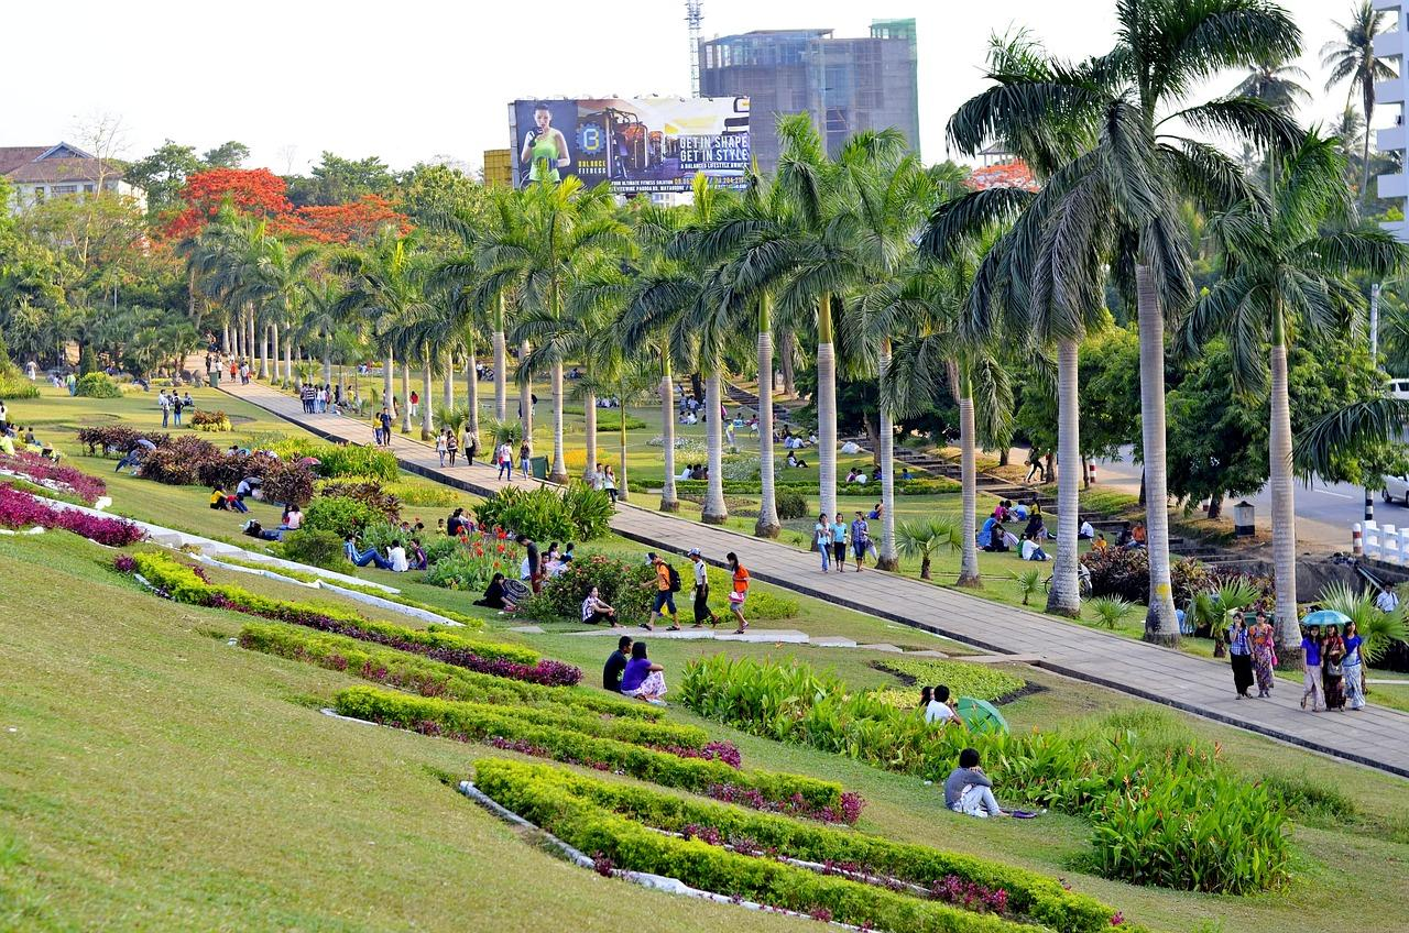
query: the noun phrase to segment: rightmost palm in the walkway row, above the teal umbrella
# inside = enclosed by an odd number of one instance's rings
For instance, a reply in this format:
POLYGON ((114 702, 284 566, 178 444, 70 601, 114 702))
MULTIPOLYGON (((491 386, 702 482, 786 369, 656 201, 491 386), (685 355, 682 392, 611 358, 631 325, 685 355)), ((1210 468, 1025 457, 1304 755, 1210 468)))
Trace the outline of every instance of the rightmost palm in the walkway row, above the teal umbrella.
POLYGON ((1344 183, 1339 140, 1308 134, 1296 151, 1272 158, 1278 171, 1271 173, 1267 197, 1234 204, 1210 221, 1226 268, 1189 313, 1185 344, 1196 351, 1208 335, 1226 334, 1234 385, 1243 392, 1262 389, 1271 369, 1268 452, 1278 658, 1299 667, 1286 351, 1298 331, 1326 334, 1351 324, 1364 304, 1351 275, 1389 275, 1409 259, 1409 251, 1384 231, 1350 225, 1355 209, 1344 183), (1267 368, 1255 362, 1264 344, 1270 345, 1267 368))

